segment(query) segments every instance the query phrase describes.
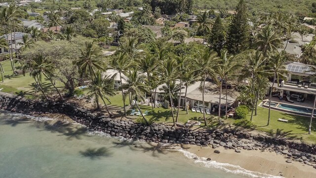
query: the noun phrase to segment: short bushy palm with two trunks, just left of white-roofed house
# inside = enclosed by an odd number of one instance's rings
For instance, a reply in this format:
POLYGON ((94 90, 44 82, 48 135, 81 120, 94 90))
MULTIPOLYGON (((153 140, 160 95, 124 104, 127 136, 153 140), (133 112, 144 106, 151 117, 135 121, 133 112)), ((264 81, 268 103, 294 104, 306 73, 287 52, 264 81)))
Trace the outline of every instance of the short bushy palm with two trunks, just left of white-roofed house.
POLYGON ((110 78, 109 76, 102 76, 100 71, 97 71, 96 75, 94 76, 91 84, 87 88, 88 91, 88 97, 94 97, 94 101, 97 105, 97 109, 100 109, 99 104, 99 98, 104 103, 104 106, 109 113, 110 117, 112 114, 110 113, 107 103, 105 102, 104 98, 111 104, 110 99, 108 96, 114 96, 115 95, 115 89, 114 89, 114 80, 110 78))

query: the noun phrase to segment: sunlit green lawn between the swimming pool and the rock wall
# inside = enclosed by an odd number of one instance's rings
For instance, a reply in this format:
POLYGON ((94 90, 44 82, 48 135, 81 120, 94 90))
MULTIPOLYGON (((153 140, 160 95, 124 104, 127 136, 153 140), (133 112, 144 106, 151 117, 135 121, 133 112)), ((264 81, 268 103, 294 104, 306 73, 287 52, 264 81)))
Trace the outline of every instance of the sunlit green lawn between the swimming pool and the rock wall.
MULTIPOLYGON (((312 134, 308 134, 310 117, 298 116, 271 110, 270 125, 268 122, 268 108, 259 107, 257 116, 253 116, 252 123, 255 125, 253 129, 264 131, 268 135, 275 137, 287 137, 292 140, 301 140, 308 143, 316 143, 316 120, 312 123, 312 134), (279 122, 277 119, 286 119, 288 123, 279 122)), ((250 121, 251 112, 248 113, 247 120, 250 121)), ((238 120, 230 119, 230 122, 237 123, 238 120)))

